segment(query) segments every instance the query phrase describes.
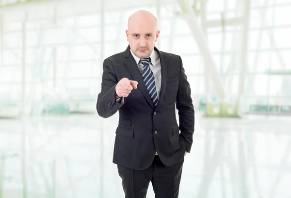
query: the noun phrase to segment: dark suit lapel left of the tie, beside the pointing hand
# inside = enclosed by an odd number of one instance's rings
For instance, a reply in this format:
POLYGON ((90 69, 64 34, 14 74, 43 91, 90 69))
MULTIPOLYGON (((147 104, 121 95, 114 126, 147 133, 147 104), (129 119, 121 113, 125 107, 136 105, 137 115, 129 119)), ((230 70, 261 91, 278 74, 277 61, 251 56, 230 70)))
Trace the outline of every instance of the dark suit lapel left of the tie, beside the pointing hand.
POLYGON ((148 91, 146 89, 144 79, 143 79, 138 67, 136 66, 136 62, 130 53, 129 47, 125 51, 125 64, 128 67, 129 72, 131 73, 131 76, 133 77, 133 80, 138 82, 137 88, 142 92, 142 94, 144 95, 148 104, 152 108, 154 108, 153 102, 150 99, 150 96, 149 96, 148 91))

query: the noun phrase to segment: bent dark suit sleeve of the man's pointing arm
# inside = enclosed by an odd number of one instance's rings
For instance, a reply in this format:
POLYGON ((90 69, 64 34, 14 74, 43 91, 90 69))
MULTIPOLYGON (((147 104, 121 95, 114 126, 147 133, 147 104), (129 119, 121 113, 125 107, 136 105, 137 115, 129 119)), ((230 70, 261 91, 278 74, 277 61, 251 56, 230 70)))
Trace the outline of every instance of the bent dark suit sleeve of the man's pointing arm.
POLYGON ((116 101, 115 86, 117 82, 111 62, 105 59, 103 62, 101 92, 98 94, 96 105, 97 113, 101 117, 107 118, 114 115, 126 100, 125 98, 120 98, 116 101))

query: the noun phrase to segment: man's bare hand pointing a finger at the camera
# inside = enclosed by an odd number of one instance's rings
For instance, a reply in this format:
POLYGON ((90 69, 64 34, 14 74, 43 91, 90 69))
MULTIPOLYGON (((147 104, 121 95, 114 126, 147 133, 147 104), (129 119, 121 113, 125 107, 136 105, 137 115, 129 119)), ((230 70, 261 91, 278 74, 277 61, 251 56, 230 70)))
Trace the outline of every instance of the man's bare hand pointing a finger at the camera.
POLYGON ((137 88, 137 81, 129 81, 128 78, 121 79, 115 86, 116 99, 128 97, 132 88, 137 88))

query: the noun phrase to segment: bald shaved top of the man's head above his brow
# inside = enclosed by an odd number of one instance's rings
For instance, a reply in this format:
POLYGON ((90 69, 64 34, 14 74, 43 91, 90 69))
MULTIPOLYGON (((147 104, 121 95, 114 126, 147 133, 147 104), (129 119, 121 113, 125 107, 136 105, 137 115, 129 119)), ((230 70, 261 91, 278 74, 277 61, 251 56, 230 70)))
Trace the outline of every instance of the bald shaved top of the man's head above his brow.
POLYGON ((152 25, 155 26, 155 30, 157 30, 157 18, 152 13, 146 11, 146 10, 139 10, 135 13, 133 13, 131 16, 129 16, 128 20, 128 29, 130 31, 130 28, 134 24, 140 24, 140 23, 152 23, 152 25))

